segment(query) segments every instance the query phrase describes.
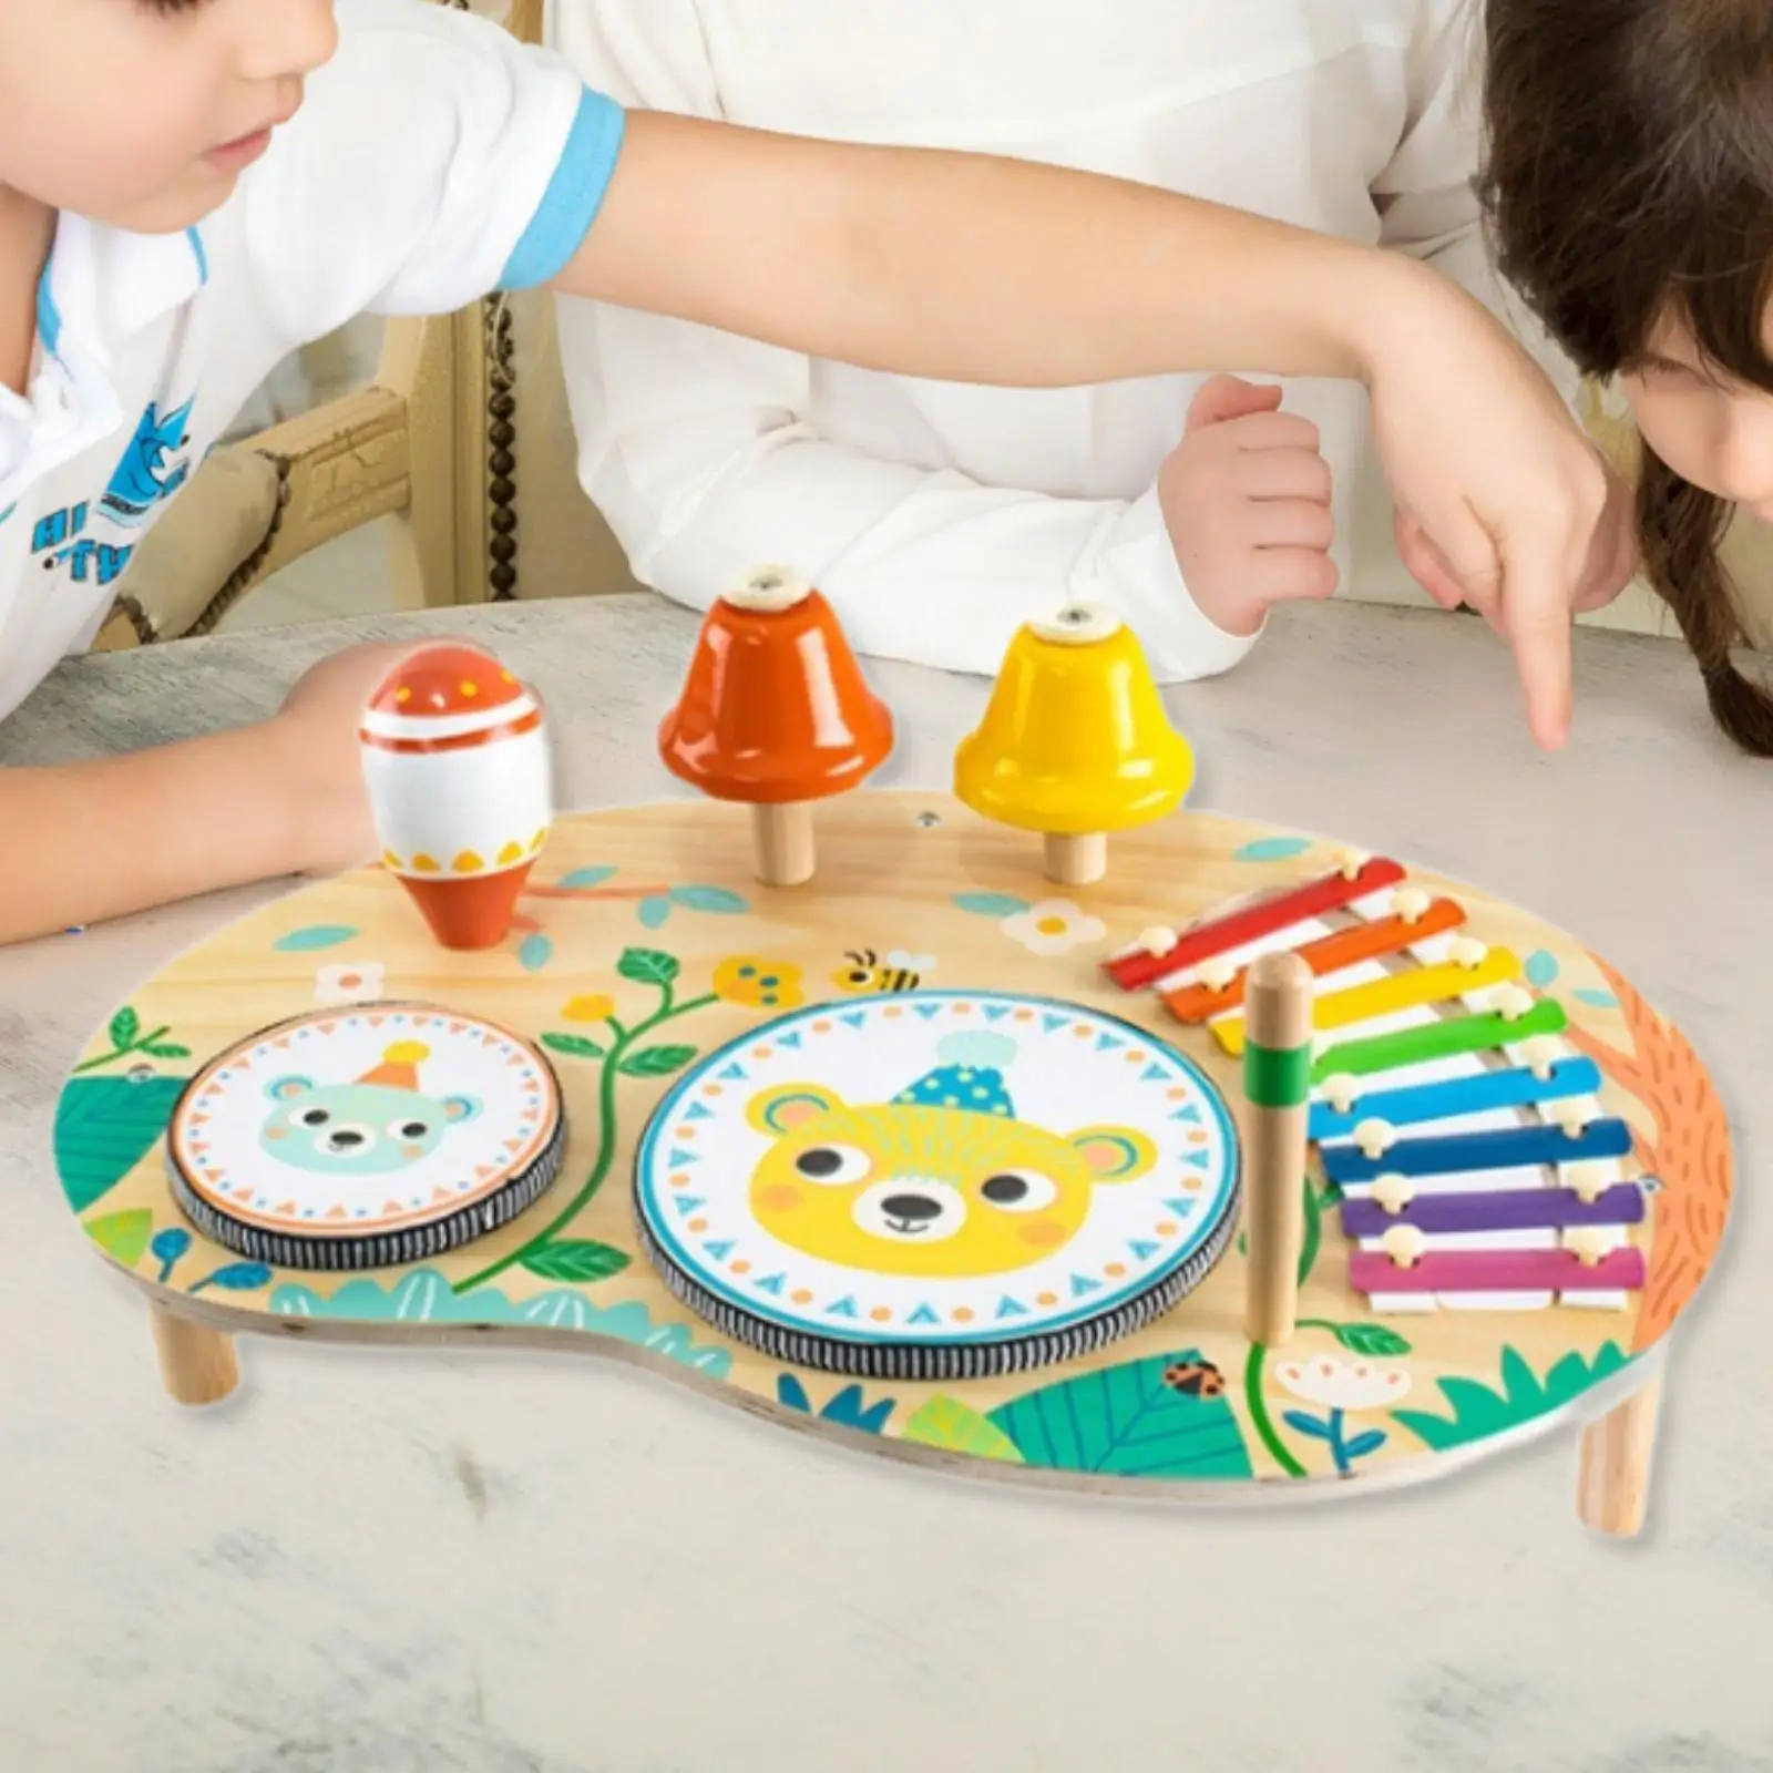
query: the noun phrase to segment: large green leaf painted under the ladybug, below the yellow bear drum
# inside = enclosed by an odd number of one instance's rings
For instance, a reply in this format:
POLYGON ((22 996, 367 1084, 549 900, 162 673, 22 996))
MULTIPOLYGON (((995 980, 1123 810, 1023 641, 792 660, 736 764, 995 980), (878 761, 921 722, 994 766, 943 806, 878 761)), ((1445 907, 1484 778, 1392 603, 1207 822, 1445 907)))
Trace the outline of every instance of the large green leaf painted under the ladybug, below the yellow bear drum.
POLYGON ((1252 1477, 1250 1454, 1223 1397, 1191 1397, 1163 1383, 1199 1349, 1135 1360, 1044 1385, 993 1410, 1028 1464, 1117 1477, 1252 1477))

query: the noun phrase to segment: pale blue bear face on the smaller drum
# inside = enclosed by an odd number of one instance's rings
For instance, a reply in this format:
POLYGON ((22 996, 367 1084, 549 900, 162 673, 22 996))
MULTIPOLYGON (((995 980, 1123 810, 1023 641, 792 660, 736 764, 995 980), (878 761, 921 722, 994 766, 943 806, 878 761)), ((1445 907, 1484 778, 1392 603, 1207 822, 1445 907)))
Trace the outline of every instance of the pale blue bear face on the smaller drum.
POLYGON ((472 1121, 472 1096, 427 1096, 388 1083, 323 1083, 278 1078, 277 1106, 259 1133, 278 1163, 324 1175, 385 1175, 422 1163, 452 1126, 472 1121))

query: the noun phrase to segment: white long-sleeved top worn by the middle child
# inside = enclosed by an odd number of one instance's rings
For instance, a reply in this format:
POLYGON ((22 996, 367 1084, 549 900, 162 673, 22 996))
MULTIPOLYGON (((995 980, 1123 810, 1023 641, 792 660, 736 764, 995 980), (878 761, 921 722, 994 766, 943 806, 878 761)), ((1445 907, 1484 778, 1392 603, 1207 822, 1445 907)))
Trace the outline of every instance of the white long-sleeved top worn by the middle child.
MULTIPOLYGON (((1142 179, 1429 259, 1521 324, 1472 191, 1472 0, 551 0, 550 41, 631 106, 1142 179)), ((1158 507, 1199 376, 920 381, 576 300, 560 333, 585 491, 676 601, 784 562, 858 651, 968 672, 1066 598, 1165 681, 1254 644, 1195 606, 1158 507)), ((1363 390, 1293 381, 1285 408, 1323 433, 1342 585, 1395 601, 1363 390)))

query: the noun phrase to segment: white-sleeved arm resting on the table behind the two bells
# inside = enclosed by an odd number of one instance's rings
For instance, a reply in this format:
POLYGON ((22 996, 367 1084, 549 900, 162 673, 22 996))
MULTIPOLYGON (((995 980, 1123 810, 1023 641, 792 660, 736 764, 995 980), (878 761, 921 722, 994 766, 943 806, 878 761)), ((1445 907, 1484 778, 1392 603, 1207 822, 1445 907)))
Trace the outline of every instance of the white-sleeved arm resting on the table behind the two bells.
POLYGON ((858 651, 984 676, 1067 598, 1112 605, 1160 683, 1229 670, 1254 644, 1191 596, 1156 488, 1058 498, 839 443, 803 417, 808 358, 654 314, 564 301, 560 356, 585 491, 635 576, 677 603, 706 610, 755 562, 787 560, 858 651))

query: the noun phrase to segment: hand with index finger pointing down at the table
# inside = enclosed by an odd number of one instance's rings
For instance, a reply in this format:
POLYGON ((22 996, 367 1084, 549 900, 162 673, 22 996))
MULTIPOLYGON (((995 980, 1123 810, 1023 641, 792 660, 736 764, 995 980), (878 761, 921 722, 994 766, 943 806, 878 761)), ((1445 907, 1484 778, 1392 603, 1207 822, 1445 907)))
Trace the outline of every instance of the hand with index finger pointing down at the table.
POLYGON ((1619 571, 1606 466, 1500 321, 1427 268, 1399 261, 1392 275, 1413 293, 1394 284, 1397 300, 1376 305, 1363 360, 1399 544, 1413 573, 1433 562, 1429 576, 1509 642, 1532 734, 1555 750, 1569 732, 1571 612, 1619 571))

